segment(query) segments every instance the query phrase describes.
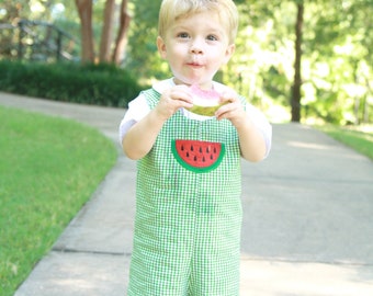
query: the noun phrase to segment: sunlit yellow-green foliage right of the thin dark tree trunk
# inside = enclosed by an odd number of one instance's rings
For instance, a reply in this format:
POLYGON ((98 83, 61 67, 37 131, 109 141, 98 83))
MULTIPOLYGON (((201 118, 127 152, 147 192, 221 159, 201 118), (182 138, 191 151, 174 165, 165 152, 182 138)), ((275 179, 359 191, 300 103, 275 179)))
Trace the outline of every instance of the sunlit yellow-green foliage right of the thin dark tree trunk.
POLYGON ((372 121, 372 0, 308 3, 304 38, 309 113, 337 124, 372 121), (315 18, 317 15, 317 18, 315 18), (370 115, 371 114, 371 115, 370 115))

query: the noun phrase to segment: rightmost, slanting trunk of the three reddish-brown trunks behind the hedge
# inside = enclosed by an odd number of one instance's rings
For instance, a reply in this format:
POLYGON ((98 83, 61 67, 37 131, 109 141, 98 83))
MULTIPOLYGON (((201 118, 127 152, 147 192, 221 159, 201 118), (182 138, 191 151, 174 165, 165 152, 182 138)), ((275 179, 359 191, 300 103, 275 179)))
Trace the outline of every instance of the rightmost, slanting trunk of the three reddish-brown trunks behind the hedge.
POLYGON ((120 16, 120 30, 116 36, 115 49, 113 54, 113 62, 120 65, 123 58, 123 53, 127 44, 127 31, 131 22, 131 16, 127 13, 128 0, 122 0, 121 16, 120 16))

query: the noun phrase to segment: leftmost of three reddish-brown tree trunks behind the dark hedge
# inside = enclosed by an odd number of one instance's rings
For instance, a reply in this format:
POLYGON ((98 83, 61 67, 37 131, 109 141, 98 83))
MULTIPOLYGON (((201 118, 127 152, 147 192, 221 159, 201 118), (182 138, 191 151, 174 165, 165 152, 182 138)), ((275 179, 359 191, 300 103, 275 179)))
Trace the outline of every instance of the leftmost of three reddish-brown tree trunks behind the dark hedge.
POLYGON ((81 61, 94 61, 92 0, 76 0, 81 27, 81 61))

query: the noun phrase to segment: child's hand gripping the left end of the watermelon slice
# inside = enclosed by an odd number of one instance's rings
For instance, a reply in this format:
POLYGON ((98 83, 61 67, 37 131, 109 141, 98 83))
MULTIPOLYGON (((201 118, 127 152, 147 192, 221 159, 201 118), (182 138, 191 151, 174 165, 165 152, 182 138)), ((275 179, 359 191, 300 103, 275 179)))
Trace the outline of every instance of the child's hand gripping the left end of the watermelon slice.
POLYGON ((192 107, 192 96, 189 94, 187 86, 176 86, 165 91, 155 111, 163 119, 167 121, 181 107, 192 107))

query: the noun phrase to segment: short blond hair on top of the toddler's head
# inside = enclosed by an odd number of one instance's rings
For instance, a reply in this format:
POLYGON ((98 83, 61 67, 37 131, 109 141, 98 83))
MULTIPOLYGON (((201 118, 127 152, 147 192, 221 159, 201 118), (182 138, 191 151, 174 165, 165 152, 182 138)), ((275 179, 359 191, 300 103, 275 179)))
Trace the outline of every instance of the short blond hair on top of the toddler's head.
POLYGON ((174 21, 201 12, 217 13, 227 27, 229 43, 235 42, 238 11, 233 0, 163 0, 159 11, 159 36, 165 37, 167 29, 174 21))

